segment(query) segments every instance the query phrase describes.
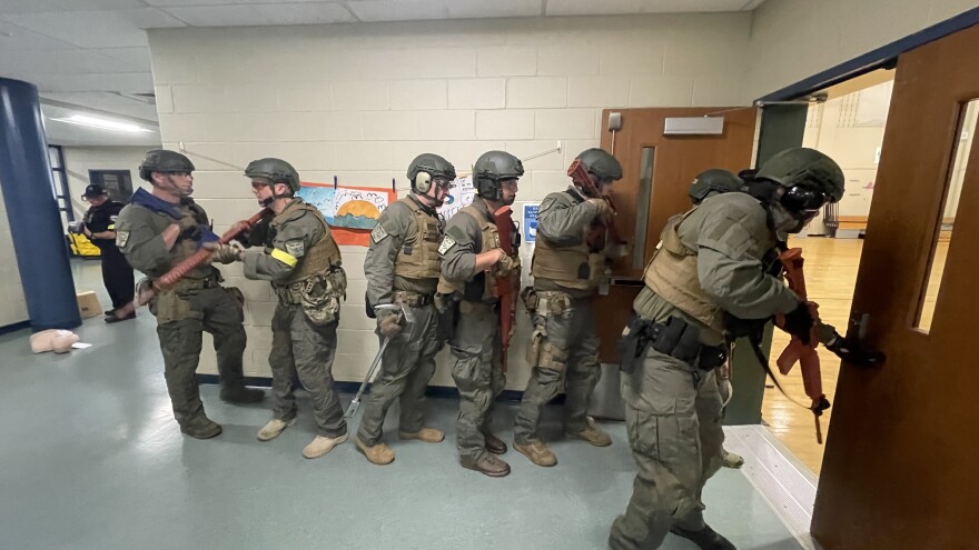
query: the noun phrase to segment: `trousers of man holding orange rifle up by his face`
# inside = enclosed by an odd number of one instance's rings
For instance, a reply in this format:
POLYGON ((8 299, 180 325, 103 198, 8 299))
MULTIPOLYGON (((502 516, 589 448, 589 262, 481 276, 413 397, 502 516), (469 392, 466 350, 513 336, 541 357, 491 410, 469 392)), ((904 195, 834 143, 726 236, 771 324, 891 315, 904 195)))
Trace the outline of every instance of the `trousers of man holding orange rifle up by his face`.
POLYGON ((526 444, 537 438, 544 406, 554 399, 565 377, 564 430, 578 432, 587 428, 589 398, 599 383, 599 334, 587 299, 571 301, 560 312, 536 316, 535 327, 543 328, 537 366, 524 390, 513 428, 513 439, 526 444))

